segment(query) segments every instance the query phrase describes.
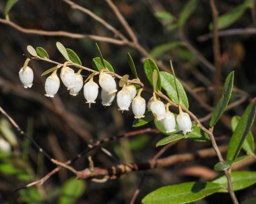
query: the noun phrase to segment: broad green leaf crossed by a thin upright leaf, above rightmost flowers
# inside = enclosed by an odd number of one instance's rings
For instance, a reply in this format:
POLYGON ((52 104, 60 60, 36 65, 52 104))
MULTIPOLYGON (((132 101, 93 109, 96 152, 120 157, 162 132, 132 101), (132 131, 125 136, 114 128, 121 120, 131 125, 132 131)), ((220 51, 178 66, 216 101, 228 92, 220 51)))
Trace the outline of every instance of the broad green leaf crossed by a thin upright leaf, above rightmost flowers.
MULTIPOLYGON (((161 86, 166 91, 167 96, 174 102, 174 104, 179 104, 179 99, 175 87, 174 76, 166 71, 160 71, 161 76, 161 86)), ((181 105, 189 108, 189 100, 187 100, 187 94, 181 84, 181 82, 176 78, 177 88, 179 92, 181 105)))

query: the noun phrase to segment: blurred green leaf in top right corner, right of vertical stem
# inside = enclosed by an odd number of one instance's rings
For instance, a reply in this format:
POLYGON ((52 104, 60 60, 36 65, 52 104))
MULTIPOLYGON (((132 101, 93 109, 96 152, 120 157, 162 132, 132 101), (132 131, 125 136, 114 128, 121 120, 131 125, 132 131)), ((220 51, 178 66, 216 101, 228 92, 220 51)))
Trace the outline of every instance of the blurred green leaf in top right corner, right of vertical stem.
MULTIPOLYGON (((245 3, 242 3, 241 5, 238 5, 237 7, 232 8, 227 13, 220 15, 218 17, 218 29, 224 29, 228 26, 231 26, 241 18, 241 16, 245 13, 247 8, 251 6, 251 0, 245 1, 245 3)), ((209 25, 210 30, 213 29, 213 24, 211 23, 209 25)))

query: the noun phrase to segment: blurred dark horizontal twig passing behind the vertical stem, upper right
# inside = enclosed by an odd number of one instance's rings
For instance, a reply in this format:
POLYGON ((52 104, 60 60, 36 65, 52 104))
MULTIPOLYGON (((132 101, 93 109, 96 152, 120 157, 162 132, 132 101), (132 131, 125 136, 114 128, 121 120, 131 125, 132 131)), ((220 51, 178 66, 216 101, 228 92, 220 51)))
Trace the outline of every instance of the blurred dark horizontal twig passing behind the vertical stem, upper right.
MULTIPOLYGON (((238 36, 238 35, 252 35, 252 34, 256 34, 256 28, 234 28, 234 29, 220 30, 219 31, 219 37, 238 36)), ((197 40, 199 42, 204 42, 206 40, 209 40, 213 36, 214 36, 214 34, 208 33, 208 34, 204 34, 202 36, 198 36, 197 40)))

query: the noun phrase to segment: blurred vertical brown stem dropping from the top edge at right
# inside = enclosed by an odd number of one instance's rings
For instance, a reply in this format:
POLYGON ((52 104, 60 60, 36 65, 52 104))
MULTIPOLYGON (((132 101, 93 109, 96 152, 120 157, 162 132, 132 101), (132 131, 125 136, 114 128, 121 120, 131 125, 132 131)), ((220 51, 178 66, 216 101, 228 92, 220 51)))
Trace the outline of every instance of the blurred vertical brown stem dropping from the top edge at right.
POLYGON ((214 0, 210 0, 210 5, 212 9, 212 19, 213 19, 213 26, 214 26, 214 41, 213 41, 213 48, 214 48, 214 64, 216 67, 215 71, 215 104, 217 104, 220 98, 220 86, 222 81, 222 64, 221 64, 221 54, 220 54, 220 40, 218 36, 218 10, 214 0))

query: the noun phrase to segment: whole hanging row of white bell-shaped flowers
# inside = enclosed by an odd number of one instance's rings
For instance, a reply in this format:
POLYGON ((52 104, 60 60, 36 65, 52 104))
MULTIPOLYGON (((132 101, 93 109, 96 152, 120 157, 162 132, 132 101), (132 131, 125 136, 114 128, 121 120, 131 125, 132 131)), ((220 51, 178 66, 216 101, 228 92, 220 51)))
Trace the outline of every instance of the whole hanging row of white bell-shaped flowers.
MULTIPOLYGON (((94 82, 94 75, 92 74, 84 83, 83 77, 81 75, 82 69, 79 69, 77 73, 73 69, 67 67, 65 64, 61 68, 61 80, 57 75, 57 69, 47 77, 45 81, 45 92, 44 94, 47 97, 53 98, 57 94, 60 81, 63 82, 69 94, 72 96, 77 96, 80 90, 84 86, 84 97, 86 98, 86 103, 91 104, 96 102, 98 96, 98 84, 94 82)), ((22 81, 24 88, 31 88, 33 81, 33 71, 30 67, 24 67, 20 69, 19 72, 20 80, 22 81)), ((122 112, 124 110, 129 110, 131 106, 135 118, 143 118, 146 112, 146 100, 141 97, 141 92, 143 88, 137 89, 132 83, 125 83, 123 88, 117 92, 117 83, 113 75, 104 72, 103 70, 99 72, 99 81, 98 81, 101 90, 101 99, 103 106, 110 106, 115 99, 117 93, 117 105, 119 110, 122 112)), ((168 110, 169 104, 164 105, 163 102, 156 98, 156 93, 153 93, 152 98, 148 101, 148 109, 152 111, 152 114, 157 121, 160 121, 166 129, 166 133, 172 133, 176 131, 176 121, 178 123, 178 130, 183 131, 184 134, 191 132, 191 119, 189 114, 183 112, 179 106, 179 115, 175 120, 175 116, 170 110, 168 110)))

